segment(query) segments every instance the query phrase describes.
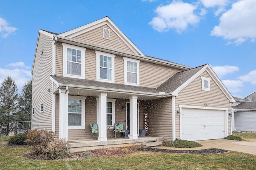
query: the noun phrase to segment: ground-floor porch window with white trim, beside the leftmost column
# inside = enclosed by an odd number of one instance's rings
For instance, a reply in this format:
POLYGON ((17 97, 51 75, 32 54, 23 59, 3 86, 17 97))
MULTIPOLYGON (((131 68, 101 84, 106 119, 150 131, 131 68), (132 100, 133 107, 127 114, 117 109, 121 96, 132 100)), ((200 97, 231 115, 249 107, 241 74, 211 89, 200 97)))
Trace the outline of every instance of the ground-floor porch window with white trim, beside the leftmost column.
POLYGON ((68 129, 84 129, 84 128, 85 128, 84 99, 69 98, 68 99, 68 129))

